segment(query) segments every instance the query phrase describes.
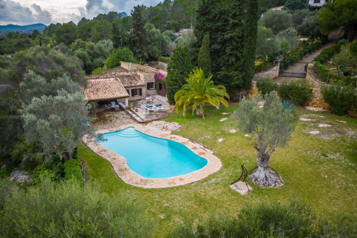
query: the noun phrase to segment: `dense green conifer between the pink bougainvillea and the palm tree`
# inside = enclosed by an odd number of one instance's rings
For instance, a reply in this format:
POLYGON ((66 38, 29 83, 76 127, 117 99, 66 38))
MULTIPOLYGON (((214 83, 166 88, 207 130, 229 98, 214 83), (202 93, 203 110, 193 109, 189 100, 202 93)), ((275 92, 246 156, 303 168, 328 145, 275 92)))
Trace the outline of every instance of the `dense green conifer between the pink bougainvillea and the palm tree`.
POLYGON ((188 77, 188 73, 190 73, 192 69, 193 65, 191 63, 188 46, 185 45, 183 48, 177 46, 170 57, 169 64, 167 65, 167 77, 165 79, 169 104, 175 104, 175 93, 186 83, 185 78, 188 77))

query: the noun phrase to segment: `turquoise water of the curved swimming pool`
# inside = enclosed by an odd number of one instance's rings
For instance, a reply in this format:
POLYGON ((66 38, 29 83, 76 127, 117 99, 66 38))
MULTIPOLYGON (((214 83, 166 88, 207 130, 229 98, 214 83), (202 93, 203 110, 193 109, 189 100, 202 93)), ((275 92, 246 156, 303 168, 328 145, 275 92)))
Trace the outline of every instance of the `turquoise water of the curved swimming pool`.
POLYGON ((123 155, 127 166, 145 178, 169 178, 189 174, 207 165, 207 160, 176 141, 151 137, 128 127, 103 134, 99 144, 123 155))

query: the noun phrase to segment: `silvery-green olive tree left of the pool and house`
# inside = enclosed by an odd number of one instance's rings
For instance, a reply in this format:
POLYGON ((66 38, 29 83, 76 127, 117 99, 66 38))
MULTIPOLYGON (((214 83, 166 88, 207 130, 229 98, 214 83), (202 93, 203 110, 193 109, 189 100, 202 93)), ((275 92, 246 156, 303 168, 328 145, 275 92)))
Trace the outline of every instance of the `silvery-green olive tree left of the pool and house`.
POLYGON ((34 97, 20 110, 25 138, 38 145, 48 158, 57 155, 61 160, 69 160, 77 143, 88 133, 83 119, 89 109, 81 92, 62 90, 56 96, 34 97))

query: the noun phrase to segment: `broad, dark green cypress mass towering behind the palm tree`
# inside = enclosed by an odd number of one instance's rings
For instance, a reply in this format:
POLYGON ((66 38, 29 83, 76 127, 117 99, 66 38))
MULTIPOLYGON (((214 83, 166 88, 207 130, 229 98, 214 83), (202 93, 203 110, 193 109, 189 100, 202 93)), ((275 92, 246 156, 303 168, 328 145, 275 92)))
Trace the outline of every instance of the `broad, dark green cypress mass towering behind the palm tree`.
POLYGON ((244 86, 243 36, 246 0, 203 0, 197 10, 193 52, 197 54, 204 36, 210 36, 209 52, 214 83, 224 85, 233 98, 244 86))

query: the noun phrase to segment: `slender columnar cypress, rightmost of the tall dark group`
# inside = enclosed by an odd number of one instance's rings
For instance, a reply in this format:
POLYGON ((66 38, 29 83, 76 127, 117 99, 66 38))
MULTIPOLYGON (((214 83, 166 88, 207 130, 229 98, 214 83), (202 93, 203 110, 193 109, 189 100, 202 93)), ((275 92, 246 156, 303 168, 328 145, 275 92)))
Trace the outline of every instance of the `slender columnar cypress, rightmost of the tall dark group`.
POLYGON ((254 76, 255 50, 257 48, 258 30, 258 0, 249 0, 244 22, 243 89, 251 89, 251 79, 254 76))

